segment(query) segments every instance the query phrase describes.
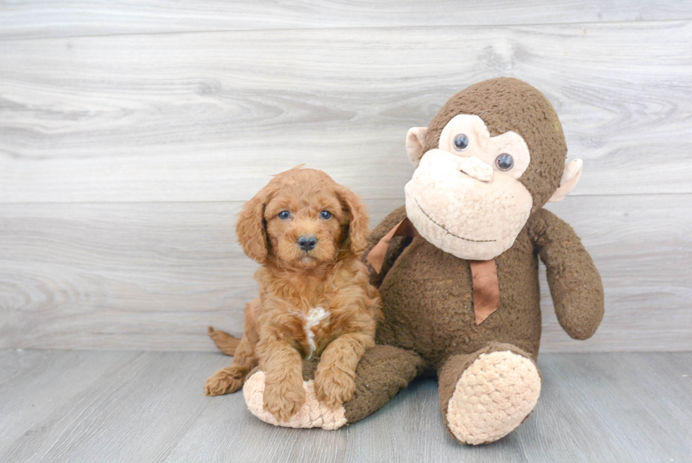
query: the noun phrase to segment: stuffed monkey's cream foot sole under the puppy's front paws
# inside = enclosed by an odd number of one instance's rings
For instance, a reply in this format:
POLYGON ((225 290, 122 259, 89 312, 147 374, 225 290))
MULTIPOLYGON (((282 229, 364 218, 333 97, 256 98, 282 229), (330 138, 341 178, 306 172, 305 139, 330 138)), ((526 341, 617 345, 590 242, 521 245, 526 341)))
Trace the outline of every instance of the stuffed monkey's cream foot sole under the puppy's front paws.
POLYGON ((265 423, 286 428, 322 428, 326 430, 338 429, 346 424, 346 411, 344 406, 330 409, 317 400, 313 380, 303 381, 305 389, 305 404, 299 411, 288 418, 288 421, 278 421, 273 414, 264 409, 264 380, 265 373, 257 370, 245 381, 243 396, 251 413, 265 423))

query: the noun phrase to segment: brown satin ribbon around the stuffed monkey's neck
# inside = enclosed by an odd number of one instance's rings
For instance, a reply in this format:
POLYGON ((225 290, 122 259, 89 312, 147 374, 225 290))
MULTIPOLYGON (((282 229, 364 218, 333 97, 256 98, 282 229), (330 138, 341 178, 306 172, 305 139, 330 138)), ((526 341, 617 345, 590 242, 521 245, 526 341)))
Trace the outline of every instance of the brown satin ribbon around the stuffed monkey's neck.
MULTIPOLYGON (((377 245, 368 253, 368 257, 366 257, 377 273, 380 273, 382 270, 389 243, 395 236, 417 238, 420 234, 408 218, 397 223, 389 233, 379 240, 377 245)), ((481 324, 500 305, 497 266, 495 259, 470 260, 469 263, 471 264, 471 276, 473 279, 473 309, 476 316, 476 324, 481 324)))

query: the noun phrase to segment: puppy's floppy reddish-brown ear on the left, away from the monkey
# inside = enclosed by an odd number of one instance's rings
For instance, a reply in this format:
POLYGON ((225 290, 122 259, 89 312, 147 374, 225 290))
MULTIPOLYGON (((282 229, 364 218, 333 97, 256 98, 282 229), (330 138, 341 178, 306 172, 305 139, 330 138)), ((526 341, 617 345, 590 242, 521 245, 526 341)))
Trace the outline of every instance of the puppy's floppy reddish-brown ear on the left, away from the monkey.
POLYGON ((269 252, 264 208, 277 191, 278 188, 270 182, 250 201, 247 201, 238 213, 238 223, 235 228, 238 242, 243 247, 246 256, 260 264, 266 262, 269 252))

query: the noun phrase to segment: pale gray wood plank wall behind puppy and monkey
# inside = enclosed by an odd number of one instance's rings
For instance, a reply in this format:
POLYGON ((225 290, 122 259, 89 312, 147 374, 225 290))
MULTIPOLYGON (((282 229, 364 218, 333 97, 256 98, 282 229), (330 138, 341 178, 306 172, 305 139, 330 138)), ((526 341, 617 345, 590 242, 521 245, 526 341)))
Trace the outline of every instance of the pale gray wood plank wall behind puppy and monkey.
POLYGON ((409 127, 513 76, 559 112, 579 186, 550 209, 601 271, 572 341, 692 349, 692 2, 147 0, 0 4, 0 347, 212 350, 256 268, 234 214, 322 168, 402 204, 409 127))

